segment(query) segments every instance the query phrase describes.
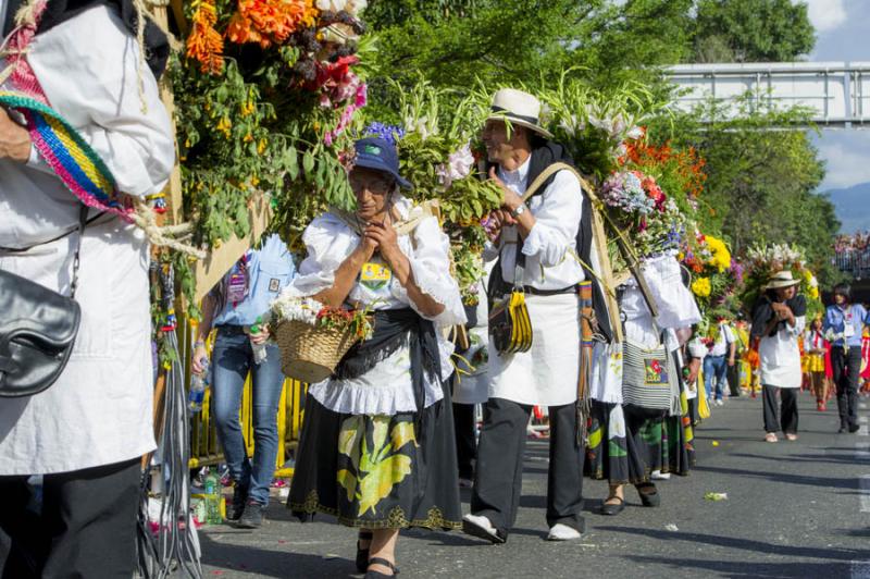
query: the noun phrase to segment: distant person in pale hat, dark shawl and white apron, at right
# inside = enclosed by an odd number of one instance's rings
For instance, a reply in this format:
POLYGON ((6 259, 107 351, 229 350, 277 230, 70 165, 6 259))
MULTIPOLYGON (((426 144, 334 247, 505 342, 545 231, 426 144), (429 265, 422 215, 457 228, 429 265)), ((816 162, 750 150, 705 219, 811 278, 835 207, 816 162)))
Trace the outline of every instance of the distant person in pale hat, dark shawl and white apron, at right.
POLYGON ((767 442, 778 441, 780 428, 787 440, 797 440, 797 392, 803 380, 797 341, 804 333, 807 311, 806 299, 797 295, 799 284, 791 271, 776 272, 753 308, 753 337, 761 338, 758 354, 767 442))

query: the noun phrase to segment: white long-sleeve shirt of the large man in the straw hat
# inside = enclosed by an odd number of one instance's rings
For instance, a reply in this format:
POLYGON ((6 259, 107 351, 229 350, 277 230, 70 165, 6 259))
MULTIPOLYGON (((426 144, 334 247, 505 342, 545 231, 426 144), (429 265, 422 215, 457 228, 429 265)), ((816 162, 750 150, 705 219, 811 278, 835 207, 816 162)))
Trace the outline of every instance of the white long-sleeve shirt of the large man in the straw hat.
MULTIPOLYGON (((499 178, 518 195, 523 195, 531 185, 531 159, 517 171, 498 170, 499 178)), ((527 206, 535 217, 535 225, 523 243, 526 256, 523 285, 562 290, 582 282, 585 279, 583 268, 574 257, 583 215, 583 190, 576 175, 568 170, 557 172, 549 186, 532 197, 527 206)), ((501 252, 501 275, 508 283, 513 282, 518 239, 517 227, 505 227, 499 246, 490 246, 485 255, 495 259, 501 252)))

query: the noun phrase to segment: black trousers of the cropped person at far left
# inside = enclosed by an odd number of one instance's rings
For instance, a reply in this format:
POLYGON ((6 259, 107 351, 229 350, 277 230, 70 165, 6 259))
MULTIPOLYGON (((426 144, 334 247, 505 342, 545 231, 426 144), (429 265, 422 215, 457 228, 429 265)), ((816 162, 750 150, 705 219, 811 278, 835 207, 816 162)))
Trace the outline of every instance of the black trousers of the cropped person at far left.
POLYGON ((46 475, 41 515, 27 477, 0 477, 0 576, 129 579, 140 477, 139 458, 46 475))

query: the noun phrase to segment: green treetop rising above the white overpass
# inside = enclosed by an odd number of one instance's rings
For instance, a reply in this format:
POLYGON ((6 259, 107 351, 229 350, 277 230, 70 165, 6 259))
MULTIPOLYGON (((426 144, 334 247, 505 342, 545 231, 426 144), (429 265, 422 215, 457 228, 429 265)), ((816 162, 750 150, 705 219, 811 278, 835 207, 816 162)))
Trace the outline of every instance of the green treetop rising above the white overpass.
POLYGON ((698 1, 695 62, 791 62, 815 44, 805 2, 698 1))

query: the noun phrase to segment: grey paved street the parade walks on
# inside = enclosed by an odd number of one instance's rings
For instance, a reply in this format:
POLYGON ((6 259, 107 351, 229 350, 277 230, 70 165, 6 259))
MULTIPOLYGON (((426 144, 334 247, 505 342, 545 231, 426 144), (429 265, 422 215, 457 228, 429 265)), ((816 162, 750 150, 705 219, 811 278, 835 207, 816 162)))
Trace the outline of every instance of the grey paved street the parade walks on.
MULTIPOLYGON (((525 496, 508 543, 405 532, 401 577, 870 577, 867 403, 859 433, 835 434, 835 405, 818 412, 804 393, 799 440, 776 444, 761 440, 760 398, 716 410, 697 432, 691 476, 659 484, 660 508, 641 507, 632 491, 620 516, 602 517, 595 512, 607 485, 586 481, 583 540, 545 541, 546 445, 531 442, 525 496), (706 501, 708 491, 728 500, 706 501)), ((463 493, 465 509, 468 498, 463 493)), ((300 525, 279 504, 269 516, 256 533, 203 529, 206 577, 352 576, 351 530, 326 519, 300 525)))

